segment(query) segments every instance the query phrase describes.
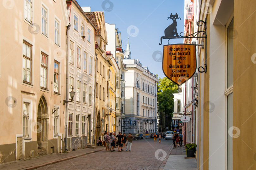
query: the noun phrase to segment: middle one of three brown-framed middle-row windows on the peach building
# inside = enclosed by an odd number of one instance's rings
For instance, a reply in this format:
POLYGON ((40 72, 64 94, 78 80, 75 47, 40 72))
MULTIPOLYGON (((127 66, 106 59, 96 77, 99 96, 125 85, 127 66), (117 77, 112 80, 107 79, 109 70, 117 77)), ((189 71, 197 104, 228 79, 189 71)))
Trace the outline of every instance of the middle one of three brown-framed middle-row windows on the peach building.
POLYGON ((40 87, 44 89, 47 89, 47 58, 46 54, 41 54, 40 87))

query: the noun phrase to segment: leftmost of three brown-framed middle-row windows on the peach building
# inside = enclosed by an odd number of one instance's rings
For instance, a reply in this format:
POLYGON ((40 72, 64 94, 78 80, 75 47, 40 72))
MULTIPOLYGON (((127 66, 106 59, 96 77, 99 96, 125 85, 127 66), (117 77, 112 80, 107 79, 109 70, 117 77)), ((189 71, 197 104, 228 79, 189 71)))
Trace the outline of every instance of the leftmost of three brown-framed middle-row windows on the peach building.
POLYGON ((31 56, 31 47, 27 43, 23 43, 23 59, 22 59, 22 80, 31 84, 32 76, 32 56, 31 56))

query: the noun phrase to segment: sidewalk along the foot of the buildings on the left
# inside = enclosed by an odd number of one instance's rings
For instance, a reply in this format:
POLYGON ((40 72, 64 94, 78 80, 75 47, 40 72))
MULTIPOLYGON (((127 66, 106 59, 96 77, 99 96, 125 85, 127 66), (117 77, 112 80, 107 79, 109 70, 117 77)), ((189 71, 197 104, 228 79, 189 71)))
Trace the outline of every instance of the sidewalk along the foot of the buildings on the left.
POLYGON ((80 156, 88 155, 94 152, 99 152, 101 150, 105 150, 106 147, 98 146, 96 149, 79 149, 73 150, 67 153, 58 153, 58 154, 50 154, 38 156, 35 158, 28 158, 26 160, 18 160, 13 162, 7 162, 0 165, 0 169, 27 169, 32 170, 39 167, 44 167, 50 164, 67 161, 69 159, 74 159, 80 156))

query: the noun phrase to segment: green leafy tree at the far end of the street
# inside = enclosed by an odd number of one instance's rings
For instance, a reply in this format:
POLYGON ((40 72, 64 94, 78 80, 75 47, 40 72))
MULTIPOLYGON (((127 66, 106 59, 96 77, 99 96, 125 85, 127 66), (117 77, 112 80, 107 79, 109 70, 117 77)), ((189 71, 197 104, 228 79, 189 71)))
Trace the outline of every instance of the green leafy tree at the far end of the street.
MULTIPOLYGON (((160 78, 157 84, 157 106, 159 112, 159 129, 165 131, 172 126, 172 116, 174 109, 174 96, 173 93, 178 93, 178 86, 170 81, 167 77, 160 78)), ((173 127, 172 127, 173 128, 173 127)))

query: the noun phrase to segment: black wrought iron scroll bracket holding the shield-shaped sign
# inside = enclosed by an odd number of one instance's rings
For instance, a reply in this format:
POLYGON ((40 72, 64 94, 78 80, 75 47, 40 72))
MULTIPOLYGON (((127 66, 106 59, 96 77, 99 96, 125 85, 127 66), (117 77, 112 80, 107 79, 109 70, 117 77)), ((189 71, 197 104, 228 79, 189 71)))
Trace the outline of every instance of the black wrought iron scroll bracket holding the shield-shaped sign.
MULTIPOLYGON (((177 25, 177 22, 176 22, 176 25, 177 25)), ((183 32, 180 32, 180 36, 178 34, 175 34, 175 36, 170 36, 170 37, 169 36, 162 36, 160 38, 161 43, 159 43, 159 45, 162 45, 162 39, 168 39, 168 45, 169 45, 170 39, 177 39, 177 38, 205 38, 205 56, 204 56, 205 63, 204 63, 204 67, 203 66, 198 67, 198 72, 206 73, 206 71, 207 71, 207 63, 206 63, 206 56, 207 56, 206 55, 207 54, 207 41, 206 41, 206 39, 207 39, 207 34, 206 34, 206 31, 207 31, 207 19, 205 18, 205 21, 203 21, 203 20, 197 21, 197 26, 198 27, 204 26, 204 28, 201 31, 194 32, 194 33, 192 33, 190 35, 187 35, 187 36, 182 36, 181 34, 183 32), (200 33, 202 33, 201 34, 202 36, 199 36, 200 33)))

